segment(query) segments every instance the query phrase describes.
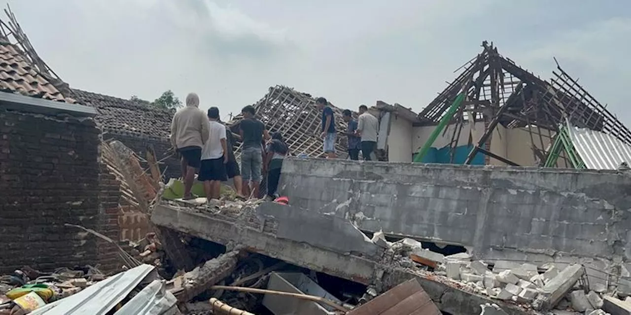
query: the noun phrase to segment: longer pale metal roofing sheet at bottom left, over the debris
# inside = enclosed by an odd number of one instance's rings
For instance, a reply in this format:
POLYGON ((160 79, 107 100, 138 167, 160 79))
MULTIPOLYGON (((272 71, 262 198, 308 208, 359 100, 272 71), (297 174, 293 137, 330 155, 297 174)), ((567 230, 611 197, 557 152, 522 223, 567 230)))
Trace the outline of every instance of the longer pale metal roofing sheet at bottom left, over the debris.
POLYGON ((40 307, 30 315, 105 315, 155 269, 140 265, 90 285, 77 294, 40 307))

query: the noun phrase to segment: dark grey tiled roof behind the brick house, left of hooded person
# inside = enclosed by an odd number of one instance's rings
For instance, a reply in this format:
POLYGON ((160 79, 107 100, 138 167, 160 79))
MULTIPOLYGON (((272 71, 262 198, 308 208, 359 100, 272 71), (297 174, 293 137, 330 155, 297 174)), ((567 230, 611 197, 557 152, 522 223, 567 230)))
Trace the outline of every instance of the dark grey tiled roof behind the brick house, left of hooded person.
POLYGON ((74 98, 98 110, 97 122, 103 131, 168 137, 174 111, 163 110, 131 100, 72 89, 74 98))

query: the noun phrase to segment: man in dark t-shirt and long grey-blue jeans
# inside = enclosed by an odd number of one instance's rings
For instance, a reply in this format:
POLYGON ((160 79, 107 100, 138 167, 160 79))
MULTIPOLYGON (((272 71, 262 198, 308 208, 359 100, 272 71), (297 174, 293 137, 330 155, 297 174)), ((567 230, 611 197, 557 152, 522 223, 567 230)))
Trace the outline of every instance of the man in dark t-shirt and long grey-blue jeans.
POLYGON ((263 164, 261 142, 263 139, 269 139, 269 133, 261 120, 254 117, 256 113, 254 106, 245 106, 241 113, 243 119, 239 123, 239 133, 243 140, 241 147, 243 193, 246 197, 256 196, 258 198, 263 164))

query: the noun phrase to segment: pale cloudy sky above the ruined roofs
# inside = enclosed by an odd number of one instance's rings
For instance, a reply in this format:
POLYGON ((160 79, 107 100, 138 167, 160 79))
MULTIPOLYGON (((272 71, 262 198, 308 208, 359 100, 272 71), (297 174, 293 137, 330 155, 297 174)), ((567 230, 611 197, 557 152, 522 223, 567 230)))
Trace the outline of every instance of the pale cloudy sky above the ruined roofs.
POLYGON ((551 77, 557 57, 623 123, 631 2, 620 0, 9 0, 73 88, 155 100, 196 92, 222 117, 282 84, 341 108, 420 112, 493 42, 551 77))

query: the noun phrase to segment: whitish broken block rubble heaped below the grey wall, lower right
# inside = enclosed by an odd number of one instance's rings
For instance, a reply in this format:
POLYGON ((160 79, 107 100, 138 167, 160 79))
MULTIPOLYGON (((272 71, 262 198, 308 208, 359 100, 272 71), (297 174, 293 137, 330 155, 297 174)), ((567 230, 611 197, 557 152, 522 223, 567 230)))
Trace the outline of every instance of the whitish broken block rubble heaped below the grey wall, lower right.
MULTIPOLYGON (((446 280, 454 287, 517 304, 540 314, 631 314, 631 297, 606 292, 604 285, 589 290, 585 268, 579 264, 560 268, 553 263, 541 266, 522 263, 516 268, 504 269, 472 260, 468 253, 444 256, 423 249, 414 239, 389 243, 375 233, 372 241, 389 246, 389 253, 401 266, 420 264, 422 270, 433 272, 434 277, 442 277, 437 279, 441 282, 446 280)), ((483 312, 492 312, 490 305, 483 307, 483 312)))

